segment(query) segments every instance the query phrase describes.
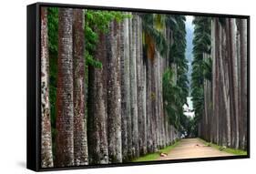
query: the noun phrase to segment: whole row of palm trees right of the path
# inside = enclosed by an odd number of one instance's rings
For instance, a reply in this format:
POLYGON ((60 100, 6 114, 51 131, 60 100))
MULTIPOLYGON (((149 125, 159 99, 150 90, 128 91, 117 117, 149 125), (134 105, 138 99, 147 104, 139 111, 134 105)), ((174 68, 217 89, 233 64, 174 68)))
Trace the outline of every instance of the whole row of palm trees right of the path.
POLYGON ((192 96, 199 136, 247 149, 247 21, 195 17, 192 96))

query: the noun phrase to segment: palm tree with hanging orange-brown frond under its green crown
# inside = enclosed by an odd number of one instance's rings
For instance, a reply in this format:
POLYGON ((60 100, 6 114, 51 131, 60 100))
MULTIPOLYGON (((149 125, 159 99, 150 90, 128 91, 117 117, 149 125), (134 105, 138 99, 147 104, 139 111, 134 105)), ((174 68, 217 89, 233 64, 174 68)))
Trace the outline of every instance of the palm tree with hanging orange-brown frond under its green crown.
MULTIPOLYGON (((144 56, 147 57, 145 63, 147 63, 147 82, 145 86, 147 87, 146 106, 147 109, 142 109, 147 112, 147 122, 146 128, 148 131, 147 144, 148 151, 156 151, 161 144, 161 118, 160 118, 160 82, 161 79, 159 71, 158 59, 160 56, 164 56, 167 50, 166 38, 163 35, 163 28, 165 27, 165 17, 164 15, 141 15, 142 16, 142 29, 143 29, 143 49, 145 50, 144 56)), ((146 79, 146 78, 145 78, 146 79)), ((146 89, 145 87, 145 89, 146 89)), ((140 121, 142 122, 142 121, 140 121)), ((146 130, 145 128, 145 130, 146 130)), ((144 135, 141 135, 144 137, 144 135)))

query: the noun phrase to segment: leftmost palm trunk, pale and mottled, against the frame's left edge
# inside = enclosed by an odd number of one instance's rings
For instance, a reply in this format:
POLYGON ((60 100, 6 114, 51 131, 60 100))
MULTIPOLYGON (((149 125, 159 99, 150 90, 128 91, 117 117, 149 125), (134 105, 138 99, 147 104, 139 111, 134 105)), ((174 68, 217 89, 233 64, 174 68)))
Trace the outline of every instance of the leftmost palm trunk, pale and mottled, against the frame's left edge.
POLYGON ((51 168, 53 163, 52 133, 49 101, 49 52, 47 8, 41 7, 41 167, 51 168))

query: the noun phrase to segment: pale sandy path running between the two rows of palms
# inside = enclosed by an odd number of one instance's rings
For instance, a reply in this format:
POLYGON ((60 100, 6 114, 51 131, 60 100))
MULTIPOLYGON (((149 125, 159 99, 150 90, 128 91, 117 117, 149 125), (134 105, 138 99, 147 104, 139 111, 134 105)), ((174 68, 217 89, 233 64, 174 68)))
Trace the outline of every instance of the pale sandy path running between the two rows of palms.
POLYGON ((167 157, 159 157, 159 160, 193 159, 223 156, 233 156, 233 154, 220 151, 216 148, 207 147, 198 138, 185 138, 180 140, 177 147, 170 150, 167 157))

